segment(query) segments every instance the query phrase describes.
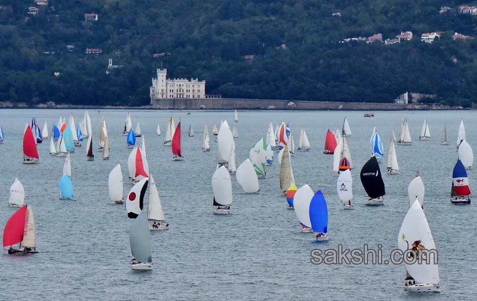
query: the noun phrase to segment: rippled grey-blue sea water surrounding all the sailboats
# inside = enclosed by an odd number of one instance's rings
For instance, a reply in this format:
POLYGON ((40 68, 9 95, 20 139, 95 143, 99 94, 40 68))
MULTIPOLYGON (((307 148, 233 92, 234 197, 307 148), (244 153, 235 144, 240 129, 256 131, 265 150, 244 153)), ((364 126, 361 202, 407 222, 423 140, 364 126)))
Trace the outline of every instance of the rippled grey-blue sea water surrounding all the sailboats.
MULTIPOLYGON (((454 206, 449 202, 452 168, 457 159, 455 140, 462 118, 467 141, 477 147, 477 118, 471 111, 377 112, 364 118, 350 111, 240 111, 233 123, 233 111, 132 111, 133 128, 140 121, 146 136, 149 168, 158 186, 170 230, 151 233, 154 270, 131 270, 129 229, 124 206, 109 201, 107 177, 121 163, 128 181, 126 137, 122 135, 126 111, 90 111, 94 149, 98 128, 105 116, 110 160, 96 152, 86 161, 86 141, 71 155, 75 201, 59 200, 58 183, 64 158, 49 156, 49 143, 39 144, 40 164, 22 164, 22 138, 26 122, 36 115, 40 127, 51 127, 58 117, 73 113, 76 124, 83 110, 0 110, 6 142, 0 145, 2 173, 0 193, 4 227, 15 209, 8 208, 9 188, 15 177, 23 183, 26 202, 32 205, 40 253, 22 256, 0 255, 0 299, 137 300, 142 299, 471 299, 477 292, 477 217, 475 205, 454 206), (171 116, 182 121, 182 145, 186 158, 173 162, 171 147, 163 146, 171 116), (341 127, 347 116, 352 136, 347 139, 354 164, 352 170, 354 210, 342 210, 336 194, 336 173, 332 158, 323 155, 326 130, 341 127), (392 130, 399 133, 407 117, 412 146, 396 145, 401 173, 383 175, 385 206, 368 207, 359 179, 361 167, 370 157, 373 126, 383 137, 388 152, 392 130), (429 121, 432 138, 419 141, 422 122, 429 121), (215 170, 216 143, 210 153, 201 152, 205 123, 227 120, 236 126, 237 166, 248 158, 250 147, 265 136, 270 121, 290 123, 298 145, 300 126, 305 126, 311 151, 296 152, 292 158, 297 186, 321 189, 329 210, 328 242, 317 243, 313 234, 300 233, 293 210, 287 210, 280 195, 277 162, 267 167, 260 180, 259 194, 245 194, 232 176, 233 214, 212 214, 211 178, 215 170), (160 124, 162 135, 157 136, 160 124), (194 137, 187 136, 189 124, 194 137), (447 125, 450 145, 440 145, 447 125), (315 248, 363 248, 383 245, 384 256, 397 247, 401 223, 409 209, 407 186, 420 169, 426 193, 424 207, 439 251, 441 294, 409 294, 403 290, 403 265, 313 265, 315 248)), ((138 141, 140 139, 138 138, 138 141)), ((277 153, 275 153, 277 154, 277 153)), ((386 160, 381 170, 386 170, 386 160)), ((469 171, 470 187, 477 189, 476 172, 469 171)), ((385 259, 386 259, 385 258, 385 259)))

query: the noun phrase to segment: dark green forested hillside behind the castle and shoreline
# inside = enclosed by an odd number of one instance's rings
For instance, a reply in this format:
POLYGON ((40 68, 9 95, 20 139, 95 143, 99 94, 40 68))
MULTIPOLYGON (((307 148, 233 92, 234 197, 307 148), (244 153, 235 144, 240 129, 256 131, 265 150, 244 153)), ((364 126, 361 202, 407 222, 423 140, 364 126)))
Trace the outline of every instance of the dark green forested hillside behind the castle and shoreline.
POLYGON ((147 104, 162 62, 168 77, 206 80, 207 94, 222 97, 391 102, 409 91, 469 106, 477 102, 477 39, 452 35, 477 38, 477 16, 458 14, 463 4, 50 0, 45 7, 0 0, 0 101, 147 104), (442 5, 452 9, 440 14, 442 5), (28 14, 30 7, 40 11, 28 14), (86 22, 85 13, 98 20, 86 22), (414 38, 338 43, 401 31, 414 38), (443 32, 439 40, 421 42, 434 31, 443 32), (106 74, 108 58, 123 67, 106 74))

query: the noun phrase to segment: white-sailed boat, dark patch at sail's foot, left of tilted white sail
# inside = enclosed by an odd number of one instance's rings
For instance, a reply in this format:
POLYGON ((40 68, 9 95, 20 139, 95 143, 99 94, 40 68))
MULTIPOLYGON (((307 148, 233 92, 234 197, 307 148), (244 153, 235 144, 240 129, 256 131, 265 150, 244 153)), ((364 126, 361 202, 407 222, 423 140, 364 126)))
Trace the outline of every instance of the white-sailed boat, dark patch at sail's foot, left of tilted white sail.
POLYGON ((225 166, 219 167, 212 176, 213 214, 229 214, 232 204, 232 183, 225 166))

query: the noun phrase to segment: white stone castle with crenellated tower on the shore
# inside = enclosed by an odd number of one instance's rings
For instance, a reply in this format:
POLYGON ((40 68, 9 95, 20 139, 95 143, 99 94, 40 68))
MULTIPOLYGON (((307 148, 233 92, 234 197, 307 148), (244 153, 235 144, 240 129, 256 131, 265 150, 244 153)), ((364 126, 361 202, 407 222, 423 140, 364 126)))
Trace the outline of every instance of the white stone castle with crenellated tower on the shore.
POLYGON ((152 79, 149 95, 154 99, 205 98, 205 80, 174 78, 167 79, 167 69, 157 69, 157 78, 152 79))

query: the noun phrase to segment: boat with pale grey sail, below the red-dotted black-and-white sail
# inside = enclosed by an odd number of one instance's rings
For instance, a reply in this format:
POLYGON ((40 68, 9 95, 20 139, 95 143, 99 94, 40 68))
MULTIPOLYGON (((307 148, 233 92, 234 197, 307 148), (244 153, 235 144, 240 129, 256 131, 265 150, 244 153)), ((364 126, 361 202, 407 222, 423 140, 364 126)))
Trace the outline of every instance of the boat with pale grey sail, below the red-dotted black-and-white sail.
POLYGON ((152 270, 151 239, 146 212, 139 214, 131 223, 129 243, 133 254, 131 268, 133 270, 152 270))

